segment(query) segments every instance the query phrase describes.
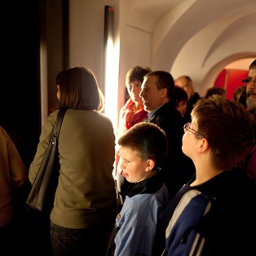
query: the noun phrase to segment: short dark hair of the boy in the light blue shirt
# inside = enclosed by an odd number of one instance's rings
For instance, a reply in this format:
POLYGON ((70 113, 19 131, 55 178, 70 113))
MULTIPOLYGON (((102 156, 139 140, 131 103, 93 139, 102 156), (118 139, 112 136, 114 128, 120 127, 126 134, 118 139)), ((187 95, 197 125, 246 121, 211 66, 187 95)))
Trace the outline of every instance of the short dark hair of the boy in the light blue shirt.
POLYGON ((168 151, 166 133, 156 124, 139 122, 126 131, 118 140, 121 147, 134 151, 142 161, 152 159, 159 167, 165 161, 168 151))

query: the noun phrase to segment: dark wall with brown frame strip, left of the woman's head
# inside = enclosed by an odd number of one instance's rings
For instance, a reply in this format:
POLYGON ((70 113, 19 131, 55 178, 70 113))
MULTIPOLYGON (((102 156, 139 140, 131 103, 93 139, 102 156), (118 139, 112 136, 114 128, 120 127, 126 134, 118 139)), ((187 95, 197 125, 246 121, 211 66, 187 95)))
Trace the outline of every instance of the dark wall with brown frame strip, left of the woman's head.
POLYGON ((41 133, 42 108, 48 114, 53 110, 55 76, 68 67, 68 0, 6 1, 2 13, 7 18, 2 22, 0 125, 29 166, 41 133), (47 106, 41 104, 41 86, 47 87, 47 106))

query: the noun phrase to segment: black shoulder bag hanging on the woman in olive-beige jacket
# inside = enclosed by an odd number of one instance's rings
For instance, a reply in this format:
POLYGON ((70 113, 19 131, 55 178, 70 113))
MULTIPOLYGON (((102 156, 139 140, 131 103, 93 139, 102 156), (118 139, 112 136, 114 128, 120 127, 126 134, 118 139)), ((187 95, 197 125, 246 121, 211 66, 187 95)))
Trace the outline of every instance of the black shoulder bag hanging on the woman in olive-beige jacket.
POLYGON ((25 204, 41 212, 49 213, 53 206, 58 186, 60 162, 58 157, 58 139, 60 127, 67 109, 60 109, 55 121, 53 135, 43 157, 42 165, 33 182, 25 204))

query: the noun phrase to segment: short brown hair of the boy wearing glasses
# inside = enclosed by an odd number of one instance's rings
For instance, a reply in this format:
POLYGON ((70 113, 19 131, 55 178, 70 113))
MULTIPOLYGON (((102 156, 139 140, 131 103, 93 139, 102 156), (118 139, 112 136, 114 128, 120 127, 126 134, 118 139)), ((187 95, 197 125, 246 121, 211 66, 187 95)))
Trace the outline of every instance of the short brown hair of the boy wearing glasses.
POLYGON ((235 100, 213 95, 199 99, 192 110, 197 131, 211 148, 211 162, 218 170, 230 170, 245 158, 254 143, 254 120, 235 100))

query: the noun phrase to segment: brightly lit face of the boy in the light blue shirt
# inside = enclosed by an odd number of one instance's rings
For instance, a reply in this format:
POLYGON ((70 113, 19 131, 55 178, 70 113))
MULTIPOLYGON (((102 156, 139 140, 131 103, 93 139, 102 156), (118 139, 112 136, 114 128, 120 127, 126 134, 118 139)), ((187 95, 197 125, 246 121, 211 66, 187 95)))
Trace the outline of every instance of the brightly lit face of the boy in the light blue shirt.
POLYGON ((137 183, 152 176, 152 170, 148 171, 148 160, 142 161, 130 148, 121 147, 119 155, 119 161, 121 161, 120 174, 130 183, 137 183))

